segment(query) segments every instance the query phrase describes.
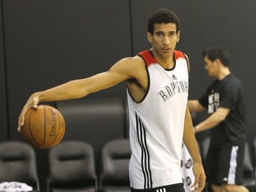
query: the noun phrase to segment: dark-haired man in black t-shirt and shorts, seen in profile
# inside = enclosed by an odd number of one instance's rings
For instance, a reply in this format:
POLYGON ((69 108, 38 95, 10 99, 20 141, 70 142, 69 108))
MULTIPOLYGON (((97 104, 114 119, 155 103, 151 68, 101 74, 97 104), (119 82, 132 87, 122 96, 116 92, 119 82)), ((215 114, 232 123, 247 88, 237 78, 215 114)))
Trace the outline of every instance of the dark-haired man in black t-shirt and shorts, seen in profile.
POLYGON ((203 52, 205 69, 216 80, 199 100, 188 100, 190 111, 210 115, 195 132, 211 129, 205 172, 213 192, 248 192, 242 186, 244 161, 244 92, 228 68, 228 52, 210 47, 203 52))

